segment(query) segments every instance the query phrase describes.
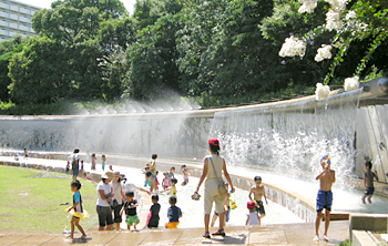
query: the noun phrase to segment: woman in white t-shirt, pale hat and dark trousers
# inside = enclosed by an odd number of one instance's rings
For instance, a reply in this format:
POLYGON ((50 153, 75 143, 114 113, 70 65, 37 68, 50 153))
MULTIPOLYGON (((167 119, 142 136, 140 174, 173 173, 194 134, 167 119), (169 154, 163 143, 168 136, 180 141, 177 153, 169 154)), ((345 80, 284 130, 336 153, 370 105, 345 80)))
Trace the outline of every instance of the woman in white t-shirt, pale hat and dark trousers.
POLYGON ((101 181, 96 186, 96 213, 99 215, 99 230, 104 230, 106 225, 106 230, 111 230, 113 219, 111 201, 114 196, 113 188, 110 182, 113 180, 113 173, 108 171, 101 176, 101 181))

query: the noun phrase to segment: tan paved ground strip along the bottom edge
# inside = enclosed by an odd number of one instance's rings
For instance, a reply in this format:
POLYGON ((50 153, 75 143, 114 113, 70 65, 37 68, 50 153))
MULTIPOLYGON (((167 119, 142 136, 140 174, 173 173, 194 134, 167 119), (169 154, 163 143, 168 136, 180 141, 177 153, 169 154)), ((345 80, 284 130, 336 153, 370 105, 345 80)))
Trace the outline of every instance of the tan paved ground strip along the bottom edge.
POLYGON ((313 242, 314 224, 273 226, 235 226, 225 228, 225 237, 203 238, 203 228, 143 229, 139 232, 88 230, 85 239, 68 239, 64 235, 2 235, 1 245, 338 245, 348 239, 348 222, 333 222, 330 240, 313 242))

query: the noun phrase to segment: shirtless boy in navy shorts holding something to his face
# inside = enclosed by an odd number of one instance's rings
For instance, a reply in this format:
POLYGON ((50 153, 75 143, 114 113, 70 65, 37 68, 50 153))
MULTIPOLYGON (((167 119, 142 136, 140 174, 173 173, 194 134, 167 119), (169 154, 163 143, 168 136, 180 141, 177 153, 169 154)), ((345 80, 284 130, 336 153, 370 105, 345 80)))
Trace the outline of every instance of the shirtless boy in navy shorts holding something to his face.
POLYGON ((318 230, 321 219, 321 211, 325 208, 325 234, 324 240, 328 242, 327 230, 330 224, 330 211, 333 202, 331 185, 336 182, 336 173, 330 170, 330 157, 324 155, 320 158, 320 166, 323 171, 315 177, 316 181, 319 181, 319 191, 317 195, 317 217, 315 219, 315 242, 319 242, 318 230))

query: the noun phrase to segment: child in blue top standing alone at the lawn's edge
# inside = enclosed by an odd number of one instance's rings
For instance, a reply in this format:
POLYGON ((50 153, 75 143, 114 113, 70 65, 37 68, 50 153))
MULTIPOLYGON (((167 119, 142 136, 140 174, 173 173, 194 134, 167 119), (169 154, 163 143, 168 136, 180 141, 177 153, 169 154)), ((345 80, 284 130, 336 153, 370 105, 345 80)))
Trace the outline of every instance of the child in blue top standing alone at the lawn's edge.
MULTIPOLYGON (((70 187, 71 187, 71 191, 74 193, 74 195, 73 195, 73 206, 70 207, 68 209, 68 212, 70 212, 71 209, 74 208, 74 212, 82 213, 83 212, 83 209, 82 209, 82 198, 81 198, 81 193, 80 193, 81 182, 80 181, 72 181, 70 183, 70 187)), ((83 230, 82 226, 79 223, 80 223, 80 218, 79 217, 73 216, 71 218, 71 221, 70 221, 71 233, 69 235, 70 238, 74 238, 74 225, 82 233, 82 236, 80 237, 80 239, 86 238, 86 234, 85 234, 85 232, 83 230)))

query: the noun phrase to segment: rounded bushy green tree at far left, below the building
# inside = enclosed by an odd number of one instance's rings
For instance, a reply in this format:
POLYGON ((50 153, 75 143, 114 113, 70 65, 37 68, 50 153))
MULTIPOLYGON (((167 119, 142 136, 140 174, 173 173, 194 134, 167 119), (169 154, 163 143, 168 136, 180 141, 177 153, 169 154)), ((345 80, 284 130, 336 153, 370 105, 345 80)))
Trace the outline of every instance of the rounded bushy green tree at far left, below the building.
POLYGON ((9 85, 17 104, 52 103, 69 93, 67 50, 49 38, 30 39, 9 63, 9 85), (57 57, 64 59, 57 59, 57 57))

